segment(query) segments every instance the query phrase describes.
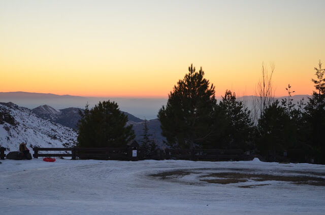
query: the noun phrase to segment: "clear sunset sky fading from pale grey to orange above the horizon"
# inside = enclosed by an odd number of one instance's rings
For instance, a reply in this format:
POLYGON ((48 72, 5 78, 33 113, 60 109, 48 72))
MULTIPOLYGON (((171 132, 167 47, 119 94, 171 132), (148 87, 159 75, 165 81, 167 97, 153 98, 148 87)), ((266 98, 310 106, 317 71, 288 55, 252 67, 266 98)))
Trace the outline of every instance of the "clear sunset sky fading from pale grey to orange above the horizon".
POLYGON ((288 83, 311 94, 324 10, 310 0, 0 0, 0 92, 166 97, 193 63, 217 96, 252 95, 272 61, 277 96, 288 83))

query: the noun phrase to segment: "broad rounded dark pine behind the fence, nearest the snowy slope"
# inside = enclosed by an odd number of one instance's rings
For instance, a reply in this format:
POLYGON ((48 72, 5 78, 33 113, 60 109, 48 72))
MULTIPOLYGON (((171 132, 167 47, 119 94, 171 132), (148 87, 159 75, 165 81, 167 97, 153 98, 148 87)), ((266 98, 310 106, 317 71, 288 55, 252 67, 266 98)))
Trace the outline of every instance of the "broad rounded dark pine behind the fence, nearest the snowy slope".
POLYGON ((135 138, 132 125, 126 126, 127 116, 116 102, 103 101, 89 110, 79 112, 78 147, 124 147, 135 138))

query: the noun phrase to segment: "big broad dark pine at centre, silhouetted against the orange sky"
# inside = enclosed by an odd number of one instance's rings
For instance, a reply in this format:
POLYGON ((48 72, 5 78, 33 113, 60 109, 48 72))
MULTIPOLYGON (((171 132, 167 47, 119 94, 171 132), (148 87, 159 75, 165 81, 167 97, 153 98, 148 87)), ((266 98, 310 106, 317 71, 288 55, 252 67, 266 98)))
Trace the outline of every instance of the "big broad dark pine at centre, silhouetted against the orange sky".
POLYGON ((213 84, 204 78, 202 68, 188 67, 189 73, 169 94, 158 119, 167 144, 175 148, 193 149, 213 135, 213 114, 216 106, 213 84))

